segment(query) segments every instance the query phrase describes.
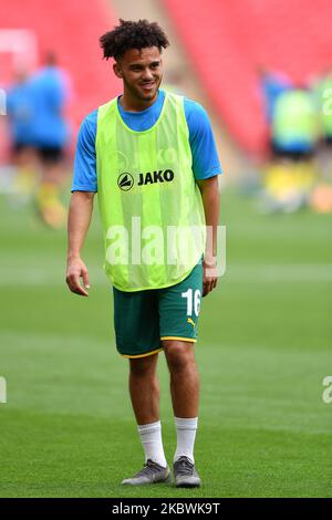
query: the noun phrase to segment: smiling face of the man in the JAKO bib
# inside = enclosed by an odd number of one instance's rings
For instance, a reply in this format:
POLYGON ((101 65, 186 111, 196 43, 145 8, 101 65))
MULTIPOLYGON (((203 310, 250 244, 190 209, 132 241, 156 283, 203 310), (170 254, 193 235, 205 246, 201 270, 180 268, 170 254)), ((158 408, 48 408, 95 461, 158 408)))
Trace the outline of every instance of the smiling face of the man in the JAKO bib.
POLYGON ((141 51, 128 49, 113 69, 132 96, 142 101, 151 101, 156 96, 163 77, 162 56, 157 46, 141 51))

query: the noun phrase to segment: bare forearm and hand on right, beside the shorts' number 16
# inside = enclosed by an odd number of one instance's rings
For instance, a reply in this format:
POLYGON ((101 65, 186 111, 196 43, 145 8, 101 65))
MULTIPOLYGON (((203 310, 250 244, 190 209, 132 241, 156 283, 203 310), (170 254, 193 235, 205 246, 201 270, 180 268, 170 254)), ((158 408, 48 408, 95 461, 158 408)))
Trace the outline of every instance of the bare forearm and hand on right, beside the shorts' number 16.
POLYGON ((204 256, 203 295, 207 295, 217 285, 217 229, 219 222, 219 188, 218 175, 204 180, 197 179, 200 189, 205 220, 207 226, 207 242, 204 256))

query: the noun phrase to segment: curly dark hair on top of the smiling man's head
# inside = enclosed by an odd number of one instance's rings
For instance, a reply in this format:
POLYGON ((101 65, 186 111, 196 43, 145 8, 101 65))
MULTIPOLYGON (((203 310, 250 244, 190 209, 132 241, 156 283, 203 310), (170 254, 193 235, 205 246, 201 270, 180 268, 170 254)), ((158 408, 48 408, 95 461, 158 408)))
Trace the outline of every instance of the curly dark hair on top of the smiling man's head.
POLYGON ((104 59, 114 58, 118 60, 128 49, 145 49, 147 46, 157 46, 166 49, 169 41, 157 24, 147 20, 137 22, 120 19, 120 24, 113 31, 108 31, 100 38, 101 48, 104 51, 104 59))

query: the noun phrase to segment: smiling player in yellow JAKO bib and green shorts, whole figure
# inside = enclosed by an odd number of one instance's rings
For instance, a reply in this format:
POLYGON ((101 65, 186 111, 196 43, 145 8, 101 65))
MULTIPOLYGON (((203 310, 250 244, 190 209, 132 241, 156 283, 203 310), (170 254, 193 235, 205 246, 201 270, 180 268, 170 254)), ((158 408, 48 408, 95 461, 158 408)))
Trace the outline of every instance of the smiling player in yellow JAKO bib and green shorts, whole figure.
POLYGON ((170 477, 156 378, 158 352, 164 350, 177 429, 175 482, 197 487, 199 379, 194 345, 200 297, 217 284, 221 168, 205 110, 159 89, 162 50, 168 44, 158 24, 146 20, 121 20, 101 38, 104 58, 115 60, 113 71, 123 80, 123 94, 89 114, 80 129, 66 282, 72 292, 89 295, 81 249, 97 193, 104 268, 114 288, 116 346, 129 360, 129 393, 145 454, 143 469, 123 483, 170 477), (209 247, 201 232, 193 239, 193 229, 201 230, 205 223, 214 230, 209 247), (185 236, 177 235, 179 229, 185 236), (189 254, 183 256, 184 242, 189 254))

